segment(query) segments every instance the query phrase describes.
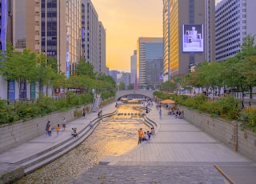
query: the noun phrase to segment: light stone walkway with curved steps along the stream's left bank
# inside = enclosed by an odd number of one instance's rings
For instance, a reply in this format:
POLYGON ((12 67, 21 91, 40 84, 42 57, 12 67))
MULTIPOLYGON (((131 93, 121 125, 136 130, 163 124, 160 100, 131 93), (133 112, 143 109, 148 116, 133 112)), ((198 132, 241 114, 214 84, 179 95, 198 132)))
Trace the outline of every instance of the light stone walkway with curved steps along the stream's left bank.
MULTIPOLYGON (((114 104, 103 107, 103 117, 115 113, 116 110, 114 104)), ((50 137, 42 134, 38 138, 0 154, 0 183, 5 183, 5 179, 2 179, 3 176, 28 174, 66 154, 90 136, 100 120, 97 113, 87 114, 85 118, 67 122, 66 130, 61 129, 58 135, 54 130, 50 137), (93 122, 93 127, 89 126, 90 122, 93 122), (74 127, 77 128, 78 138, 71 136, 74 127)))

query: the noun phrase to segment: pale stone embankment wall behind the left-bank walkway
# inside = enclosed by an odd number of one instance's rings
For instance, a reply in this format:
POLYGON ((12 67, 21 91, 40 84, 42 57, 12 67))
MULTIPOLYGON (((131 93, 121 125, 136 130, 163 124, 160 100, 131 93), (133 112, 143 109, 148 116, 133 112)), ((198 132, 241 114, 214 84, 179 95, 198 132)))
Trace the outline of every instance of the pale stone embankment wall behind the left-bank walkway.
POLYGON ((50 125, 55 128, 58 124, 62 128, 62 118, 66 118, 66 123, 73 121, 76 117, 74 111, 81 111, 81 108, 74 108, 66 112, 56 112, 48 114, 41 118, 33 118, 26 122, 14 122, 0 126, 0 154, 21 145, 33 138, 37 138, 42 134, 46 134, 46 123, 50 121, 50 125))

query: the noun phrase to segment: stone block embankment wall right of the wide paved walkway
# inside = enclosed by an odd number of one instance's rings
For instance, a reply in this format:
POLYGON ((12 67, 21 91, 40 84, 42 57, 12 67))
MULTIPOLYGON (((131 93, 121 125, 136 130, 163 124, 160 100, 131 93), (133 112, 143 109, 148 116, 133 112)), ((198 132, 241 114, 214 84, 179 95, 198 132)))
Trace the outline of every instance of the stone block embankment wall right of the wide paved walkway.
POLYGON ((208 114, 200 114, 186 107, 184 110, 186 121, 198 126, 207 134, 230 146, 234 151, 243 154, 246 158, 256 161, 256 133, 250 130, 241 130, 240 122, 227 122, 221 118, 211 118, 208 114))

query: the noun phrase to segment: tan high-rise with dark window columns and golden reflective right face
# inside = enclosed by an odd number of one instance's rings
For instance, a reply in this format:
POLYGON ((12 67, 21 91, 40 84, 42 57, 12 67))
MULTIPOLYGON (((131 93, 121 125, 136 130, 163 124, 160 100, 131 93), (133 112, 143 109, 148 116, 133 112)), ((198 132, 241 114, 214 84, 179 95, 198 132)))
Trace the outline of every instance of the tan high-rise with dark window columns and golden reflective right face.
MULTIPOLYGON (((66 77, 74 74, 81 57, 81 0, 14 0, 14 9, 21 11, 14 15, 14 35, 21 30, 15 19, 22 18, 25 12, 22 26, 26 48, 55 58, 58 70, 66 77)), ((14 41, 17 45, 17 42, 22 43, 22 38, 15 37, 14 41)), ((22 45, 18 46, 15 48, 22 45)))

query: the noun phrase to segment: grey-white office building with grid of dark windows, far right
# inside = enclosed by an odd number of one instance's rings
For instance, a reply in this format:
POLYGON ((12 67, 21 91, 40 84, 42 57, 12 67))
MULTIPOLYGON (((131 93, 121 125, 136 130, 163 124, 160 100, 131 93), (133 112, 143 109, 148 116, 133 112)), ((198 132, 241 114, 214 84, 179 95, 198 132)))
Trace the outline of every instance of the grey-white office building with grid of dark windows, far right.
POLYGON ((241 50, 242 38, 256 34, 255 10, 254 0, 222 0, 217 4, 216 61, 234 57, 241 50))

